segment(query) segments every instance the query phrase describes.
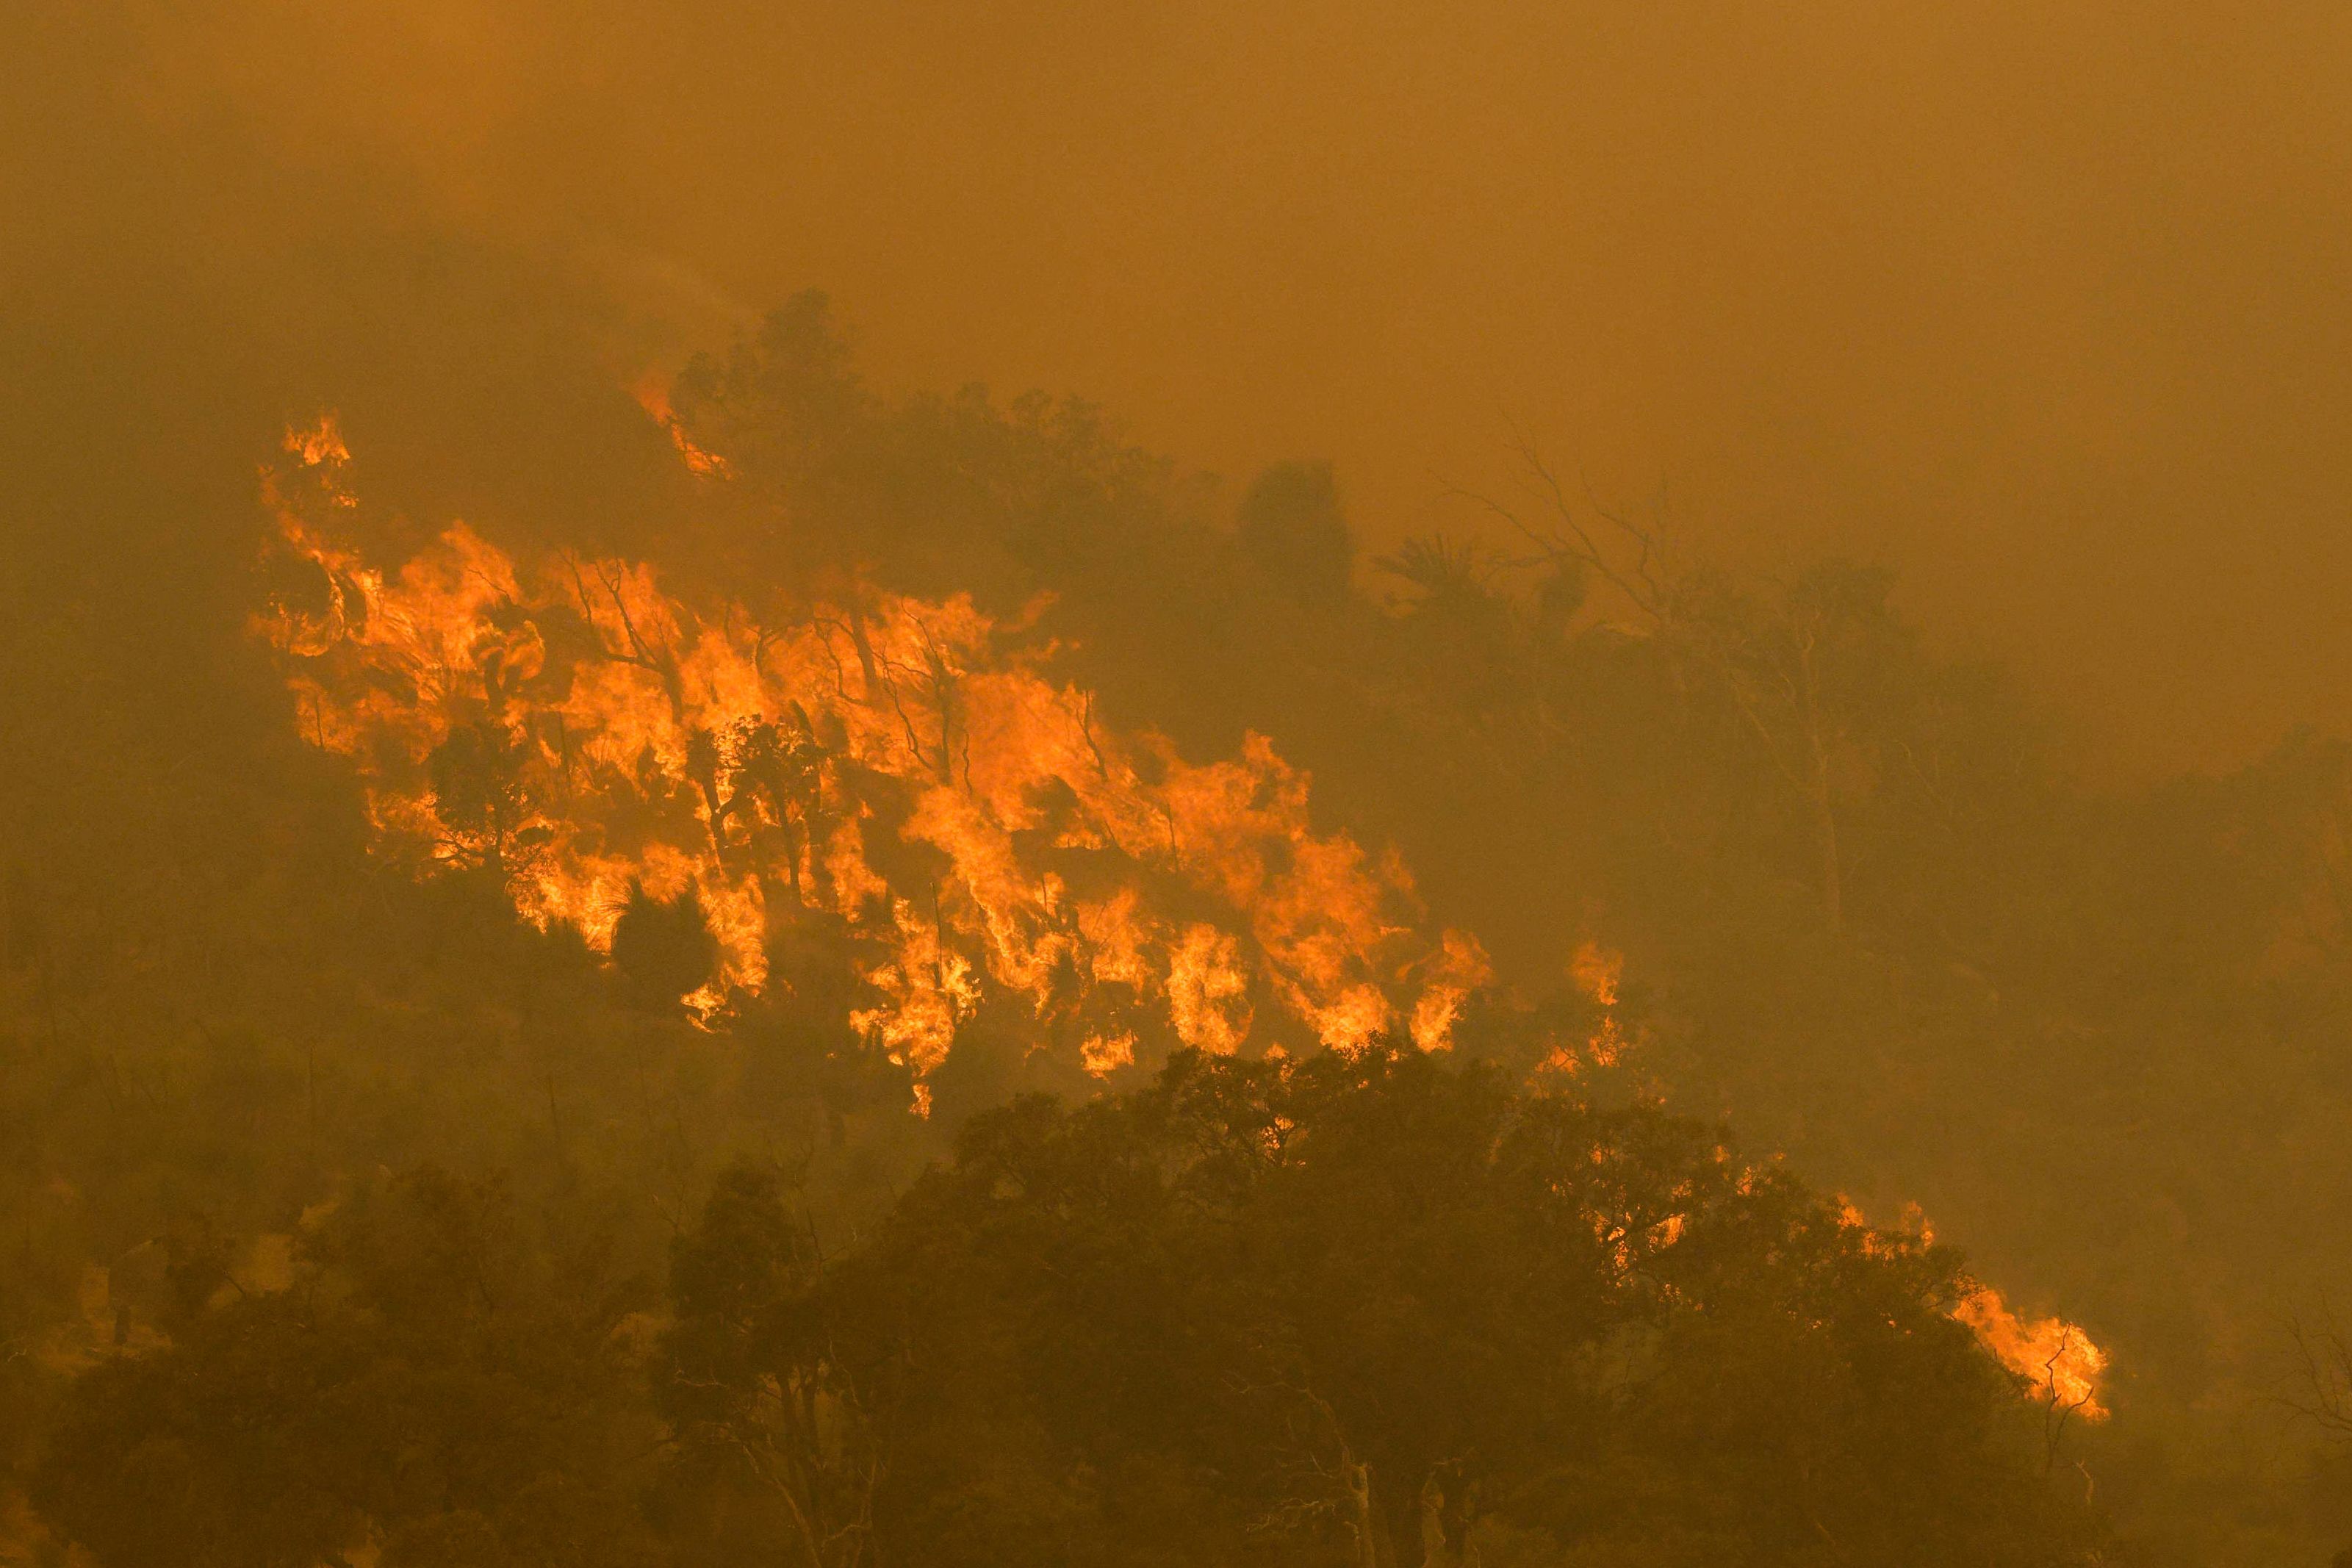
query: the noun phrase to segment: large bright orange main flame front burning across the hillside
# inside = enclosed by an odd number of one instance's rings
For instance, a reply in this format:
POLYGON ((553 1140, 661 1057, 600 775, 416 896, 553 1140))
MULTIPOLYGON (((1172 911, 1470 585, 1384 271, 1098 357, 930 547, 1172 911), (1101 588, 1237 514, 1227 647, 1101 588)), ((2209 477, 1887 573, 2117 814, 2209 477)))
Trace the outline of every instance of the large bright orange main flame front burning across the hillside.
POLYGON ((1108 1074, 1399 1025, 1439 1048, 1489 980, 1472 938, 1421 933, 1392 856, 1310 827, 1268 741, 1190 764, 1115 736, 964 597, 856 590, 764 625, 644 562, 524 569, 463 524, 383 569, 343 536, 332 421, 287 451, 270 496, 318 574, 266 630, 379 844, 485 867, 595 947, 633 889, 691 893, 720 945, 703 1016, 818 943, 856 973, 854 1025, 917 1079, 990 997, 1108 1074))

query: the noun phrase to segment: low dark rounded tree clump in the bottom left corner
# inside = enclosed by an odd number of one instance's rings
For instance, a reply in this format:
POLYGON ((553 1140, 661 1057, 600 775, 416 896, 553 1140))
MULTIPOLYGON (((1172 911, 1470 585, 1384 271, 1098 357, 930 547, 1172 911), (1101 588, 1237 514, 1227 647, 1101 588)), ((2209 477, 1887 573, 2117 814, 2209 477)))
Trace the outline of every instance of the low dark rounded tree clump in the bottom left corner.
POLYGON ((656 1436, 593 1215, 541 1237, 492 1182, 423 1168, 249 1291, 82 1378, 33 1500, 106 1568, 640 1568, 656 1436))

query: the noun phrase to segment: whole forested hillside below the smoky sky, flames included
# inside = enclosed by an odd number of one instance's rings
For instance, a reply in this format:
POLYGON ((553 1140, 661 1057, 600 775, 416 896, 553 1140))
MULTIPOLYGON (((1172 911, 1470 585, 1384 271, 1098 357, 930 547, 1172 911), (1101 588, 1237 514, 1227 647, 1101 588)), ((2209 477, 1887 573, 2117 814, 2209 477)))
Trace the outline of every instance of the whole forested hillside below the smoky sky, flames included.
POLYGON ((2352 1537, 2267 1328, 2345 1253, 2340 741, 2089 788, 1877 569, 1534 451, 1374 557, 818 296, 557 378, 628 505, 332 388, 200 484, 9 433, 7 1552, 2352 1537))

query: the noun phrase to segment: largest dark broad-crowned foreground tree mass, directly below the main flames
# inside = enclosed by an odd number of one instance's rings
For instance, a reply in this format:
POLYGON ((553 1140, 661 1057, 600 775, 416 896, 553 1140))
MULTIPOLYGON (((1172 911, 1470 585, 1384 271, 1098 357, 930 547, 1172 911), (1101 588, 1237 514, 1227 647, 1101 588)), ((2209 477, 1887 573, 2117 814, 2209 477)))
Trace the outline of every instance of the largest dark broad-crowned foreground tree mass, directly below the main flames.
POLYGON ((1167 1561, 1468 1563, 1486 1514, 1595 1561, 2091 1540, 1945 1248, 1414 1051, 981 1117, 840 1288, 910 1559, 1129 1561, 1157 1509, 1167 1561))

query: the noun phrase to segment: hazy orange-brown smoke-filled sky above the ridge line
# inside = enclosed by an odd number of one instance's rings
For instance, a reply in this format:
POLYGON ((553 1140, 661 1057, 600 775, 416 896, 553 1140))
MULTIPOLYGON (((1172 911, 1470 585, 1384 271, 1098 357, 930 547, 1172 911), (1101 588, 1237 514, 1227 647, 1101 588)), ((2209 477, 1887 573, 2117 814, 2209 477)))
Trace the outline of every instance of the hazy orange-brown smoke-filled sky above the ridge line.
POLYGON ((1898 567, 2124 766, 2352 719, 2336 0, 78 16, 0 110, 19 310, 125 226, 230 282, 557 256, 673 350, 816 284, 889 383, 1329 456, 1374 538, 1463 527, 1517 423, 1698 552, 1898 567))

